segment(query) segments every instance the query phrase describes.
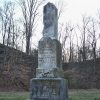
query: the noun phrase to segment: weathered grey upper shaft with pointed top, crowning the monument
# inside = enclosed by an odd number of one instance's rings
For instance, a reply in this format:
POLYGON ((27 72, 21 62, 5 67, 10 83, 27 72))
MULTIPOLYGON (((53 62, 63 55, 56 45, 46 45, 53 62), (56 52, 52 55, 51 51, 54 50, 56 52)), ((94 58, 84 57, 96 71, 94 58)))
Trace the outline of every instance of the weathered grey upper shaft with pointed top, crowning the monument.
POLYGON ((43 10, 43 37, 57 39, 58 37, 58 10, 52 3, 47 3, 43 10))

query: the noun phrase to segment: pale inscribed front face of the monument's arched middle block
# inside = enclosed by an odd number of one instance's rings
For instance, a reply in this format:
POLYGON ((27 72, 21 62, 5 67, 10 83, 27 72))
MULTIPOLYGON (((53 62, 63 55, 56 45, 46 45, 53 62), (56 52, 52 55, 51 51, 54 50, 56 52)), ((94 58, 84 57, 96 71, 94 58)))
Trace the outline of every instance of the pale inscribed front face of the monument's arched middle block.
POLYGON ((50 38, 45 38, 39 43, 38 67, 55 68, 56 67, 56 50, 50 38))

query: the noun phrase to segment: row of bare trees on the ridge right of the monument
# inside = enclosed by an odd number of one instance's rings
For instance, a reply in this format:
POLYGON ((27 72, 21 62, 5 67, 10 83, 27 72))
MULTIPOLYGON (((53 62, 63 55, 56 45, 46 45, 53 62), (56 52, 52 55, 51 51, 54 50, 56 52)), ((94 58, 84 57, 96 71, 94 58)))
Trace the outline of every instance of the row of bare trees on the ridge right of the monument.
POLYGON ((95 62, 96 58, 100 57, 99 16, 99 13, 97 19, 91 16, 82 16, 79 25, 66 23, 62 37, 64 61, 79 62, 94 59, 95 62))

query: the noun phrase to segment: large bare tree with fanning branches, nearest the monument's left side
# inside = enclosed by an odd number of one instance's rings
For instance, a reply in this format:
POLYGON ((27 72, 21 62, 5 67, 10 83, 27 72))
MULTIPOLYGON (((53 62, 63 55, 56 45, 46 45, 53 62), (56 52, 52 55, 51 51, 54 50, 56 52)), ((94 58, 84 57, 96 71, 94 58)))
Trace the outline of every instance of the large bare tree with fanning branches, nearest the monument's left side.
POLYGON ((20 6, 23 13, 23 24, 26 35, 26 53, 29 54, 30 51, 30 39, 32 36, 33 28, 36 24, 36 19, 38 17, 38 9, 43 4, 44 0, 21 0, 20 6))

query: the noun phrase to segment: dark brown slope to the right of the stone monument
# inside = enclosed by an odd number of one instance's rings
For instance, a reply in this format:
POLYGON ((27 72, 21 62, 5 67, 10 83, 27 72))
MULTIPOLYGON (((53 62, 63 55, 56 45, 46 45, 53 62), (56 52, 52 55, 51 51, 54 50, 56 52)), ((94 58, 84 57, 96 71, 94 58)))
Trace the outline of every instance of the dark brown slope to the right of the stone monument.
POLYGON ((100 58, 94 61, 64 63, 65 78, 70 88, 100 88, 100 58))

